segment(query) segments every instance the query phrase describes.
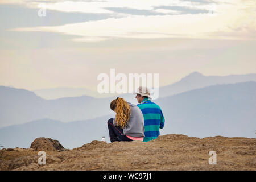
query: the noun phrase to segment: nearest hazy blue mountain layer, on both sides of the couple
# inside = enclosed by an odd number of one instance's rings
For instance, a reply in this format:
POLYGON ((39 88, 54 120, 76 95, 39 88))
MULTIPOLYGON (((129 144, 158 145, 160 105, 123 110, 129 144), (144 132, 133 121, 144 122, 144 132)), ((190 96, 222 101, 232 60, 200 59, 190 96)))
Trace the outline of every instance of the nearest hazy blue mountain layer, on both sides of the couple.
MULTIPOLYGON (((154 102, 160 105, 166 118, 160 134, 255 138, 255 90, 256 82, 242 82, 209 86, 159 98, 154 102)), ((63 100, 61 104, 65 105, 67 102, 75 105, 80 101, 79 97, 75 97, 76 100, 69 99, 70 101, 63 100)), ((100 105, 91 107, 95 110, 100 105)), ((108 105, 106 109, 110 111, 109 102, 104 105, 108 105)), ((97 112, 100 115, 101 110, 97 112)), ((50 137, 59 140, 65 148, 73 148, 91 140, 101 140, 103 135, 109 141, 106 121, 113 116, 114 113, 88 121, 69 123, 40 119, 4 127, 0 129, 0 142, 5 147, 29 147, 36 137, 50 137)))

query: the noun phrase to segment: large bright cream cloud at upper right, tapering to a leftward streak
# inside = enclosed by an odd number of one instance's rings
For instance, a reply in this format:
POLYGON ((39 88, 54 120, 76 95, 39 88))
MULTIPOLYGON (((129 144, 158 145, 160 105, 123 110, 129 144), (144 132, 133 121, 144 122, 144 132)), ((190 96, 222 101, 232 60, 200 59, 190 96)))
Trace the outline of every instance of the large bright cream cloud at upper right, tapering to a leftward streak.
MULTIPOLYGON (((76 35, 80 38, 74 41, 101 42, 113 38, 198 38, 198 39, 251 39, 250 34, 256 27, 255 2, 233 0, 209 5, 200 5, 198 9, 193 8, 191 2, 185 2, 184 6, 159 6, 160 3, 168 4, 167 1, 155 2, 148 0, 126 3, 127 7, 113 7, 116 2, 97 2, 111 5, 108 10, 130 13, 121 18, 107 18, 92 20, 89 22, 65 24, 63 26, 40 26, 20 27, 12 31, 46 31, 58 32, 66 35, 76 35), (135 6, 137 9, 135 9, 135 6), (212 8, 212 13, 209 11, 212 8), (180 11, 180 14, 150 15, 152 9, 167 9, 180 11), (207 13, 208 9, 208 13, 207 13), (147 10, 147 11, 146 11, 147 10), (143 15, 134 15, 134 14, 143 15), (189 13, 189 14, 188 14, 189 13), (147 14, 147 15, 144 15, 147 14), (250 18, 248 18, 250 17, 250 18), (230 36, 226 36, 229 34, 230 36)), ((118 1, 121 2, 121 1, 118 1)), ((125 1, 126 2, 126 1, 125 1)), ((169 1, 168 1, 169 2, 169 1)), ((174 1, 178 2, 178 1, 174 1)), ((181 2, 181 1, 179 1, 181 2)), ((75 2, 73 2, 75 3, 75 2)), ((89 3, 89 2, 88 2, 89 3)), ((170 3, 169 3, 170 4, 170 3)), ((117 3, 115 6, 121 6, 117 3)), ((107 9, 106 6, 99 6, 100 9, 107 9)))

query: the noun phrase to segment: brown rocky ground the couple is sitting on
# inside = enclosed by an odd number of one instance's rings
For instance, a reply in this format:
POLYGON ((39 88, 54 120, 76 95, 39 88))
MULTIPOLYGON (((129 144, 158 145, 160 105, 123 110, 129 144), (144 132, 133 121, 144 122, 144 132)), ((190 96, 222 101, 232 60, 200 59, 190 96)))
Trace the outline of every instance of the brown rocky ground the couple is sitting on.
POLYGON ((256 139, 162 135, 150 142, 93 141, 69 151, 0 150, 0 170, 256 170, 256 139), (217 164, 209 164, 209 151, 217 164))

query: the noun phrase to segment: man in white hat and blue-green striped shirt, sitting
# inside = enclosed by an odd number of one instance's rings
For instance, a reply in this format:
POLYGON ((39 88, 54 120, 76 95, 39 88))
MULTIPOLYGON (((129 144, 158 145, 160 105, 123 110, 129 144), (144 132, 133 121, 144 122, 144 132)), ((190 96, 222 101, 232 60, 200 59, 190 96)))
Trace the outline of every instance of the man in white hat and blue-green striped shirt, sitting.
POLYGON ((160 135, 159 129, 164 127, 164 116, 159 105, 151 102, 150 89, 140 86, 135 94, 135 98, 140 103, 137 106, 141 109, 144 117, 145 137, 143 142, 148 142, 160 135))

